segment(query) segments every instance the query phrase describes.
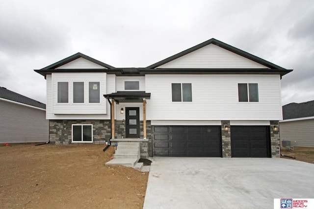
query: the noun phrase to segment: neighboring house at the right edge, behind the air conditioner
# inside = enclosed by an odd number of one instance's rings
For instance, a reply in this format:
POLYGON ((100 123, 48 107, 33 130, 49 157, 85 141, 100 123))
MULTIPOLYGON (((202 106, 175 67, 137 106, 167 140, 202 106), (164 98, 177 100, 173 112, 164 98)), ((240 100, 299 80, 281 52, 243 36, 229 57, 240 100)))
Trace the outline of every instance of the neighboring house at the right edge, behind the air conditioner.
POLYGON ((291 146, 314 147, 314 101, 284 105, 283 116, 280 140, 290 141, 291 146))

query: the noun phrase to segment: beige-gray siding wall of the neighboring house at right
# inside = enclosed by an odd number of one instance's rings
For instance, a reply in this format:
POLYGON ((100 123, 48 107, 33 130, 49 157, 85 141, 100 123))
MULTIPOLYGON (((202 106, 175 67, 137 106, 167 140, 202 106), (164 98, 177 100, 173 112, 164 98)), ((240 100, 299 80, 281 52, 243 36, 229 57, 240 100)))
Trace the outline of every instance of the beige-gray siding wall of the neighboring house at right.
POLYGON ((292 146, 314 147, 314 119, 279 122, 280 140, 292 146), (295 142, 294 142, 295 141, 295 142))

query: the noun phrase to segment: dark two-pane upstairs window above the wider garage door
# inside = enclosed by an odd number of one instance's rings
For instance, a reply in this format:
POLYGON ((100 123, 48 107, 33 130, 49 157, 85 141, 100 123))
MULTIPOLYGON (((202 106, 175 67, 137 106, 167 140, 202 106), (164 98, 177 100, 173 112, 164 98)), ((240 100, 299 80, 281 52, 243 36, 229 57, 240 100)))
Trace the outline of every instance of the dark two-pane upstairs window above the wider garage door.
POLYGON ((172 101, 173 102, 191 102, 192 101, 192 84, 190 83, 173 83, 172 101))

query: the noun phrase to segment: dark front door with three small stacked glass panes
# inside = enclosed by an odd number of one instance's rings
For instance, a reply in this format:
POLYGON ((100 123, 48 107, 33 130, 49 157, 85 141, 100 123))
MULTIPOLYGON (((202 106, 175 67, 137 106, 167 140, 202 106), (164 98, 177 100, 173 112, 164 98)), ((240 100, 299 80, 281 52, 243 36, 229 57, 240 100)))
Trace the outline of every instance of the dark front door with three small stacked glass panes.
POLYGON ((126 107, 126 137, 139 138, 139 107, 126 107))

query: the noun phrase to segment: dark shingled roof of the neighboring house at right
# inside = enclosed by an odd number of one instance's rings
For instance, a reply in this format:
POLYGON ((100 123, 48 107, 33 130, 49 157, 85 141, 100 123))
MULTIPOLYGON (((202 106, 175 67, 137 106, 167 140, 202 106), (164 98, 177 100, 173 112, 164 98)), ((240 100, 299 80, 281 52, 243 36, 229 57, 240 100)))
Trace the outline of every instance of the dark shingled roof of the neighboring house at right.
POLYGON ((283 106, 284 120, 314 116, 314 100, 303 103, 290 103, 283 106))

